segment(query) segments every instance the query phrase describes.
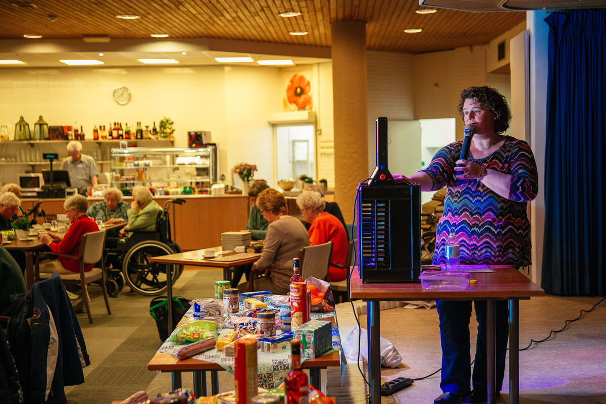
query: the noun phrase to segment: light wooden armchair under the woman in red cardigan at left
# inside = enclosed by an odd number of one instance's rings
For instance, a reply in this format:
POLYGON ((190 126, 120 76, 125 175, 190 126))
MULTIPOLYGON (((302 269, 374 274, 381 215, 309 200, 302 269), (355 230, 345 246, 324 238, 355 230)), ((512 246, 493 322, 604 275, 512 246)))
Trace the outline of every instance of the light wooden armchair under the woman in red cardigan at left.
MULTIPOLYGON (((105 279, 107 274, 105 273, 105 267, 103 265, 103 247, 105 245, 105 230, 93 231, 91 233, 86 233, 82 236, 82 241, 80 242, 80 251, 77 257, 70 256, 67 254, 59 254, 50 252, 47 254, 53 254, 59 257, 70 258, 73 260, 78 260, 80 263, 80 272, 73 274, 59 274, 61 276, 61 280, 64 285, 80 285, 82 288, 82 300, 84 300, 84 307, 86 308, 86 313, 88 314, 88 321, 92 324, 93 318, 90 315, 90 305, 88 305, 88 299, 84 295, 86 291, 86 285, 91 282, 95 282, 95 280, 101 279, 101 289, 103 290, 103 297, 105 299, 105 306, 107 307, 107 314, 112 314, 110 310, 110 303, 107 300, 107 288, 105 287, 105 279), (101 263, 101 268, 93 268, 88 272, 84 272, 84 264, 86 263, 101 263)), ((35 270, 35 281, 38 282, 41 278, 48 278, 52 275, 52 273, 40 273, 38 265, 36 265, 35 270)))

